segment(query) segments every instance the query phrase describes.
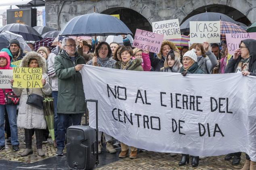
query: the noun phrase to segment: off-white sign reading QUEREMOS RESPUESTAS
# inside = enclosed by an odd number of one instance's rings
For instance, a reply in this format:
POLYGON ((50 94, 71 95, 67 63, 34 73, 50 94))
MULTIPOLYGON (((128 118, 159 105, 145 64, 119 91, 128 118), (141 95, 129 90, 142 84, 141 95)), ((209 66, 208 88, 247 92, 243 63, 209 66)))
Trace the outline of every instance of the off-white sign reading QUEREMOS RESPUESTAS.
POLYGON ((152 23, 153 33, 164 35, 164 39, 181 38, 178 19, 162 20, 152 23))

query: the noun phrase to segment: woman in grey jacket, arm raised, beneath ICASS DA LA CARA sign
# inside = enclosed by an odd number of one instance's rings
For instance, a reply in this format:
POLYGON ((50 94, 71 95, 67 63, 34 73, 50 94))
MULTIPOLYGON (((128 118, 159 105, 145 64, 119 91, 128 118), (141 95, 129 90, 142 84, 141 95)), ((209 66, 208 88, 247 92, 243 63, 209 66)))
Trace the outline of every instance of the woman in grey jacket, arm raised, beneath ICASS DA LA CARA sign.
POLYGON ((210 45, 207 42, 204 42, 202 44, 193 43, 189 48, 190 50, 196 50, 195 53, 197 55, 197 64, 199 68, 204 71, 204 74, 210 74, 213 68, 217 65, 217 58, 212 53, 209 46, 210 45), (207 58, 207 56, 209 57, 209 59, 207 58))

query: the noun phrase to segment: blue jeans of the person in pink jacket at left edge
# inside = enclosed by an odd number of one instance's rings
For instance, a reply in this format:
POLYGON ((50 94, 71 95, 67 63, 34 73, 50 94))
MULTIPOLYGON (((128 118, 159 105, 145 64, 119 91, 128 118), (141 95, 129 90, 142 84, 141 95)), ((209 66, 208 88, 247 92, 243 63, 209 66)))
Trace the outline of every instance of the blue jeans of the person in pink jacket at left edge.
POLYGON ((10 131, 11 131, 11 143, 12 145, 19 145, 18 141, 18 129, 17 129, 17 116, 16 116, 16 110, 17 105, 0 105, 0 145, 5 145, 4 141, 4 110, 6 108, 6 111, 9 118, 10 123, 10 131))

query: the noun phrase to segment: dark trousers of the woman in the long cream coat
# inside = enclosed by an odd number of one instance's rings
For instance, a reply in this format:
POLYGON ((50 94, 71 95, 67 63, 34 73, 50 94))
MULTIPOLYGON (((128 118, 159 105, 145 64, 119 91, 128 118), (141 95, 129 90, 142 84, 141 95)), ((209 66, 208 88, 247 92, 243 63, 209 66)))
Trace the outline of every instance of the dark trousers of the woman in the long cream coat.
POLYGON ((26 148, 32 149, 32 136, 36 133, 36 149, 42 149, 44 129, 24 129, 26 148))

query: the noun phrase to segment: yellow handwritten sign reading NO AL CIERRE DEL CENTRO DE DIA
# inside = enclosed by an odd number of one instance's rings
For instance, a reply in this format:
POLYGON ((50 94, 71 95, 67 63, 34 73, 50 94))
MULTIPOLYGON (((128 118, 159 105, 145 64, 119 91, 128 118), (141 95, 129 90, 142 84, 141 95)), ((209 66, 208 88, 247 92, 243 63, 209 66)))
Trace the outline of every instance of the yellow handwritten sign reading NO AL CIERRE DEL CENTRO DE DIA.
POLYGON ((13 87, 42 88, 42 68, 13 68, 13 87))

